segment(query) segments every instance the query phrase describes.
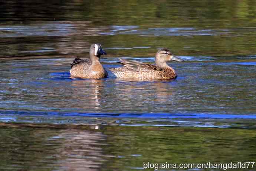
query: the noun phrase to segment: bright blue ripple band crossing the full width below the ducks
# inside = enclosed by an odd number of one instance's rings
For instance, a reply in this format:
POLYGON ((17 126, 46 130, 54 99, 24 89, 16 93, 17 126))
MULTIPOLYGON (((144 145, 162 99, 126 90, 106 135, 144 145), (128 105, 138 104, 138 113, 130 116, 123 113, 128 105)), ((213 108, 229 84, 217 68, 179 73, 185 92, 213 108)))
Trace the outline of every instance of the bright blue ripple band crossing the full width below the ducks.
MULTIPOLYGON (((217 128, 254 128, 256 115, 163 114, 163 113, 65 113, 35 111, 0 111, 0 122, 120 125, 120 126, 192 126, 217 128), (15 117, 14 117, 15 116, 15 117)), ((96 129, 96 128, 95 128, 96 129)))

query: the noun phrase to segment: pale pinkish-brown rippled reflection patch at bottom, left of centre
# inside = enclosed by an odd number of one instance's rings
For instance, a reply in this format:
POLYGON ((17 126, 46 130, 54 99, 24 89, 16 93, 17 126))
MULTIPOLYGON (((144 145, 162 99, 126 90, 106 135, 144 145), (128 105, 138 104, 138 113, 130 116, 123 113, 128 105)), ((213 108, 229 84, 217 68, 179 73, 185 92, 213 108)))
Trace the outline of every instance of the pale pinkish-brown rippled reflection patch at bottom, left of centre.
POLYGON ((93 129, 65 129, 58 135, 62 139, 57 149, 60 168, 98 171, 102 167, 106 158, 102 145, 107 136, 98 131, 99 126, 90 127, 93 129))

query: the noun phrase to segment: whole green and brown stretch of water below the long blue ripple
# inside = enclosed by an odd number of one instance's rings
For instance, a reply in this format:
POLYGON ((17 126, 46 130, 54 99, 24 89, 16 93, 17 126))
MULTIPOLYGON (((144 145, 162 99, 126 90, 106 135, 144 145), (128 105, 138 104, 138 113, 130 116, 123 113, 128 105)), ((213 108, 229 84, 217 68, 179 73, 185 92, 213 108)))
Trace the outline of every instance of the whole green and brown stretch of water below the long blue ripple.
POLYGON ((0 168, 142 170, 143 162, 197 164, 256 160, 256 132, 250 129, 5 126, 0 128, 4 159, 0 168))

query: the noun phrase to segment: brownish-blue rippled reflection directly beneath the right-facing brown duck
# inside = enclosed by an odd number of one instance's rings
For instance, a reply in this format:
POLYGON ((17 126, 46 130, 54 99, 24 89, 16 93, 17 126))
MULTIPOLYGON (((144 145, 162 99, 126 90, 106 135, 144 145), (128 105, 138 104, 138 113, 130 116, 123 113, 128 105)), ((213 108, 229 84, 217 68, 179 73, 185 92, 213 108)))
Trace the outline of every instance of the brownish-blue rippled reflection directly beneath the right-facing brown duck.
POLYGON ((173 80, 155 80, 155 81, 124 81, 115 79, 115 94, 111 96, 115 104, 111 107, 118 109, 123 105, 122 110, 132 112, 145 111, 166 111, 166 104, 175 103, 173 80))

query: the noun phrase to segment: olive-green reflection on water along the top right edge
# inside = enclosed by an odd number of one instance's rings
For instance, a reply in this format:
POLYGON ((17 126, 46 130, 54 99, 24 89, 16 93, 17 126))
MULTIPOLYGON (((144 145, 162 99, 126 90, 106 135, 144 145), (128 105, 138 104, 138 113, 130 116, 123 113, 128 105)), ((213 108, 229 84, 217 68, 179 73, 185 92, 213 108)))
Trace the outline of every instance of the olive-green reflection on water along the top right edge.
POLYGON ((81 1, 84 20, 111 25, 143 27, 255 26, 256 2, 252 0, 217 1, 81 1), (88 6, 89 4, 89 6, 88 6), (99 12, 100 11, 100 12, 99 12))

